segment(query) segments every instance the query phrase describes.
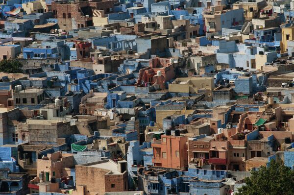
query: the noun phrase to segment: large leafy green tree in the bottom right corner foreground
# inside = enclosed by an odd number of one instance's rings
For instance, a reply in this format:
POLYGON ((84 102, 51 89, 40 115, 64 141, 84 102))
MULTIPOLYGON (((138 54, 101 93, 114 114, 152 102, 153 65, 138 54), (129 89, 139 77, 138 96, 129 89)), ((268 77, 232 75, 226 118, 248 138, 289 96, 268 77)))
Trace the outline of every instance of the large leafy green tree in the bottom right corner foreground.
POLYGON ((294 171, 274 160, 251 171, 236 195, 294 195, 294 171))

